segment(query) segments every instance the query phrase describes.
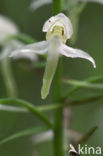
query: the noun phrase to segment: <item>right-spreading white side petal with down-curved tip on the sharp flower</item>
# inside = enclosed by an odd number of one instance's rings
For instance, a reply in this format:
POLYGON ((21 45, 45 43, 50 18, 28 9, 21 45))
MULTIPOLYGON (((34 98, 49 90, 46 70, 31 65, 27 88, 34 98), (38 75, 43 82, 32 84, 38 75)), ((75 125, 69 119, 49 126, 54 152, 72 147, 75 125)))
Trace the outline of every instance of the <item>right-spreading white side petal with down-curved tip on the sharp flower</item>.
POLYGON ((92 62, 94 68, 96 68, 96 64, 95 64, 94 59, 88 53, 86 53, 80 49, 74 49, 74 48, 71 48, 71 47, 68 47, 68 46, 62 44, 60 53, 62 55, 65 55, 65 56, 71 57, 71 58, 79 57, 79 58, 87 59, 90 62, 92 62))

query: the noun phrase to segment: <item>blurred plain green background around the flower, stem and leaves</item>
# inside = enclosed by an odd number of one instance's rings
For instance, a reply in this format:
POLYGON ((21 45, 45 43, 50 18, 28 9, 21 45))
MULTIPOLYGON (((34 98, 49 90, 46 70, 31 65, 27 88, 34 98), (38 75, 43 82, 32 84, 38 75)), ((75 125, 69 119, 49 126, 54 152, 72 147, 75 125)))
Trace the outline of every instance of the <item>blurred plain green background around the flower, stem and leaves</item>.
MULTIPOLYGON (((0 14, 11 18, 19 27, 20 32, 31 35, 37 40, 45 38, 42 26, 51 14, 51 5, 38 10, 29 10, 30 0, 0 0, 0 14)), ((94 75, 103 75, 103 6, 97 3, 88 3, 80 16, 78 39, 75 47, 83 49, 93 56, 97 68, 83 59, 63 59, 63 74, 66 78, 83 80, 94 75)), ((29 63, 28 63, 29 64, 29 63)), ((29 64, 30 66, 30 64, 29 64)), ((40 89, 43 71, 25 67, 25 61, 12 60, 12 70, 15 77, 18 97, 28 100, 35 105, 42 105, 40 89)), ((65 87, 64 87, 65 88, 65 87)), ((66 87, 67 89, 67 87, 66 87)), ((85 97, 98 93, 93 90, 81 90, 75 93, 74 98, 85 97)), ((0 73, 0 98, 7 97, 5 84, 0 73)), ((71 97, 72 98, 72 97, 71 97)), ((49 96, 46 103, 50 103, 49 96)), ((52 113, 51 113, 52 114, 52 113)), ((51 115, 49 114, 49 115, 51 115)), ((0 139, 25 128, 39 125, 40 121, 29 114, 7 113, 0 111, 0 139)), ((85 134, 93 126, 98 130, 88 144, 103 147, 103 100, 83 106, 72 107, 71 128, 85 134)), ((53 156, 52 143, 33 145, 32 137, 11 141, 0 146, 0 156, 53 156)))

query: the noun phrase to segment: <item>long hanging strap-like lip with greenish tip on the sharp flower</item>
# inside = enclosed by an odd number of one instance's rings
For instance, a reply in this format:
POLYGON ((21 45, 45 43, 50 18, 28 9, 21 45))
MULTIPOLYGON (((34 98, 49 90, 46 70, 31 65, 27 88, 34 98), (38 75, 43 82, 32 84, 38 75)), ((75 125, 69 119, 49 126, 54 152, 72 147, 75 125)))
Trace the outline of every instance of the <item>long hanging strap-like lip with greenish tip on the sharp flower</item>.
POLYGON ((41 89, 42 99, 45 99, 49 93, 50 86, 56 72, 58 59, 59 59, 59 47, 61 44, 61 38, 59 36, 53 36, 49 41, 48 58, 43 77, 43 86, 41 89))

